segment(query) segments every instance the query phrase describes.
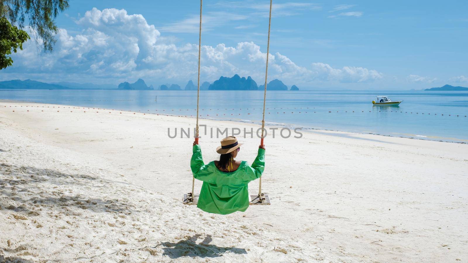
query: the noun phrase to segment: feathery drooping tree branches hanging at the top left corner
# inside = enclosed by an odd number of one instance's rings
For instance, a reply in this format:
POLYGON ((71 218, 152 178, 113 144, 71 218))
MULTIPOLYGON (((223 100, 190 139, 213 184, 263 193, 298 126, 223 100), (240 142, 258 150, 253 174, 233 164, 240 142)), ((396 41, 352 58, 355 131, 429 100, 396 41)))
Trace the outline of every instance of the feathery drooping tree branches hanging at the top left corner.
POLYGON ((42 45, 44 51, 52 51, 54 35, 59 30, 54 20, 66 8, 68 0, 0 0, 0 17, 20 29, 28 25, 36 44, 42 45))

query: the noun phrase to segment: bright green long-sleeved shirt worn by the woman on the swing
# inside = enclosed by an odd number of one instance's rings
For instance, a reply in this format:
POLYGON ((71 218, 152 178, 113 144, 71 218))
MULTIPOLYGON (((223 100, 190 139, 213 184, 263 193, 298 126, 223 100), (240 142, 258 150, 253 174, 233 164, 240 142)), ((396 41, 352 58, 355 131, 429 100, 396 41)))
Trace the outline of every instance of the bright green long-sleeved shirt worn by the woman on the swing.
POLYGON ((193 146, 190 161, 193 177, 203 181, 197 207, 205 212, 230 214, 244 212, 249 207, 248 183, 260 178, 265 168, 265 150, 259 148, 252 166, 242 161, 234 172, 220 171, 214 161, 203 162, 199 145, 193 146))

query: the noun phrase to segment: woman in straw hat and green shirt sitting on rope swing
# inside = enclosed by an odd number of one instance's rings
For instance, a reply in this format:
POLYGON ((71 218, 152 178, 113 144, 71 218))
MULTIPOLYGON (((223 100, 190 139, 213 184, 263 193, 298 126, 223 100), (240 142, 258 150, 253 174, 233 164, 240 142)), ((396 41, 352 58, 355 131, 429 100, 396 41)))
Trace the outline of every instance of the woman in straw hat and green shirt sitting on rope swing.
POLYGON ((219 161, 203 162, 200 146, 193 143, 190 161, 193 177, 203 181, 197 207, 205 212, 230 214, 244 212, 249 207, 248 183, 260 178, 265 168, 265 147, 259 146, 257 158, 252 166, 246 161, 235 161, 242 144, 234 136, 221 140, 216 148, 219 161))

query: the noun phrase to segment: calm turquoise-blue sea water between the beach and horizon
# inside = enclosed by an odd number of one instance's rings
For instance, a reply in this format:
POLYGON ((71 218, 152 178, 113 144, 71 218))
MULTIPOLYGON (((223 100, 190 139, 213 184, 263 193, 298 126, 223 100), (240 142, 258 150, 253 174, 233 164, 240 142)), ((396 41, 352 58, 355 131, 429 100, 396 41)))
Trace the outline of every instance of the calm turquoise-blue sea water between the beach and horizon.
MULTIPOLYGON (((0 99, 188 117, 196 115, 196 96, 196 91, 0 90, 0 99)), ((263 91, 200 92, 203 118, 260 123, 262 107, 263 91)), ((468 142, 468 92, 271 91, 267 108, 270 124, 468 142), (376 95, 403 102, 373 106, 376 95)))

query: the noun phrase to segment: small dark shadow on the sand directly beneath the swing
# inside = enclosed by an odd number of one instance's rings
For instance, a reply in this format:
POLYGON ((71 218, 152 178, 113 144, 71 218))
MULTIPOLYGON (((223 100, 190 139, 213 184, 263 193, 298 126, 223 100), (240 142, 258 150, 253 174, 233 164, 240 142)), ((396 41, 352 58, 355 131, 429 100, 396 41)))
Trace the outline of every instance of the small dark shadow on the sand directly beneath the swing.
POLYGON ((200 234, 196 234, 177 243, 162 242, 154 248, 162 246, 162 250, 164 251, 162 255, 168 256, 172 259, 182 256, 218 257, 223 256, 225 253, 247 254, 247 251, 244 248, 224 248, 210 245, 210 242, 212 241, 211 235, 206 235, 205 239, 197 244, 196 241, 199 236, 200 234))

